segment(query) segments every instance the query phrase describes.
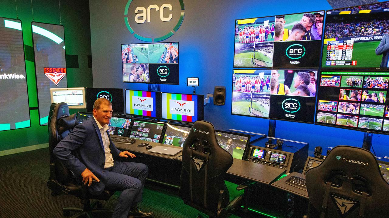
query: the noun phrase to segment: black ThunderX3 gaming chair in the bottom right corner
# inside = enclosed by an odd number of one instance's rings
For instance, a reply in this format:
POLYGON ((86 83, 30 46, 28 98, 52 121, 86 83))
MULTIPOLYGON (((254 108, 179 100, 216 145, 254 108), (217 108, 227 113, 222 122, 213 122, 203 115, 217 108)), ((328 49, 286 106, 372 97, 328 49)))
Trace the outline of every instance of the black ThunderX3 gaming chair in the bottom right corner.
POLYGON ((338 146, 307 171, 308 218, 388 217, 389 185, 370 151, 338 146))

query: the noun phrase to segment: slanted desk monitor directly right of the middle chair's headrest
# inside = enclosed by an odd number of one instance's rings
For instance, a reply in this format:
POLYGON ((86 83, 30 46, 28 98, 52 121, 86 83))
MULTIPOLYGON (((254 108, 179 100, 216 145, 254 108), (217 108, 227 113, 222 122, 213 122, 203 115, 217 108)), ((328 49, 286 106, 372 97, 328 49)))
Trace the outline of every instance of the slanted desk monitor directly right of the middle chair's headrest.
POLYGON ((219 145, 228 151, 234 158, 243 159, 246 147, 250 142, 250 135, 216 130, 216 139, 219 145))

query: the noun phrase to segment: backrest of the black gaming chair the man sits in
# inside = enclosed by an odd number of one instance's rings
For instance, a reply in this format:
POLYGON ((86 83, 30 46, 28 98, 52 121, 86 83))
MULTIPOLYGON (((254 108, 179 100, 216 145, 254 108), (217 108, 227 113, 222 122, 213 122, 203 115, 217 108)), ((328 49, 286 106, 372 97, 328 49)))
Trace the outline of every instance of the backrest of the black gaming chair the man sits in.
POLYGON ((50 163, 55 164, 55 178, 53 178, 53 175, 50 175, 50 179, 55 179, 59 183, 67 183, 72 176, 61 161, 53 154, 53 149, 78 124, 76 115, 72 114, 72 116, 69 116, 68 105, 63 102, 58 103, 54 107, 53 116, 49 124, 50 163))

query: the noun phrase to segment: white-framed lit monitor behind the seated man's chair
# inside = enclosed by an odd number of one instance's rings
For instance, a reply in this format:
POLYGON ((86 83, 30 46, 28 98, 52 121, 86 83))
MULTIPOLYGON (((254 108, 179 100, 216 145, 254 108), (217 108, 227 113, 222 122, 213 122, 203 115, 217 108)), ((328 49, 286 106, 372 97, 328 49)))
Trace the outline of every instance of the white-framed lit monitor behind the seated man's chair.
POLYGON ((69 109, 85 108, 85 88, 50 88, 51 103, 65 102, 69 109))

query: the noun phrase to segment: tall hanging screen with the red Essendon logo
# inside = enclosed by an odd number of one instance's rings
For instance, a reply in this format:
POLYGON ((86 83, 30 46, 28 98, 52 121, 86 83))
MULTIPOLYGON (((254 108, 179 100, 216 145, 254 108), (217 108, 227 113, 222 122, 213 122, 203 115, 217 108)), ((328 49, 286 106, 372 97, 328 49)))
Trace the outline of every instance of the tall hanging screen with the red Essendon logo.
POLYGON ((66 88, 65 33, 62 25, 31 22, 37 78, 39 124, 47 125, 50 88, 66 88))

